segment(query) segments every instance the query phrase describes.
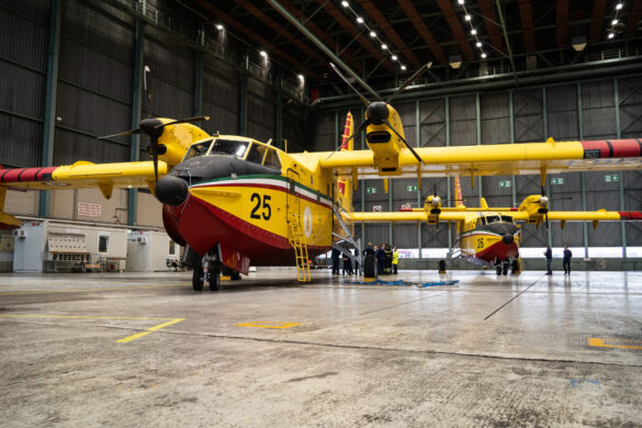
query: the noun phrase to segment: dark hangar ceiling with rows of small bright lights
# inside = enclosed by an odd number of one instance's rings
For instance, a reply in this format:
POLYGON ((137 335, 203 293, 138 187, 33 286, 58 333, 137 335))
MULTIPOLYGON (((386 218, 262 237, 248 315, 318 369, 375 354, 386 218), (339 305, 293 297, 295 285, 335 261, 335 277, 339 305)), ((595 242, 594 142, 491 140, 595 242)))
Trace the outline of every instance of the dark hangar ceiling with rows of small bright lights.
POLYGON ((429 61, 432 68, 425 82, 452 85, 481 77, 519 79, 525 74, 604 69, 641 59, 642 0, 179 3, 196 12, 204 25, 222 25, 222 31, 304 75, 322 95, 345 90, 311 35, 379 89, 397 87, 429 61))

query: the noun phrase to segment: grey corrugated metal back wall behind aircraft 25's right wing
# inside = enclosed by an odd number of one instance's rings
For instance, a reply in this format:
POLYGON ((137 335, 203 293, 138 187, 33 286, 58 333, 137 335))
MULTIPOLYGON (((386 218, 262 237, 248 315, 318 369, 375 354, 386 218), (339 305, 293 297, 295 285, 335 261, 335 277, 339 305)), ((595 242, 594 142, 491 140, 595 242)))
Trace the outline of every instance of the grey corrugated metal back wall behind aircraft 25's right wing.
MULTIPOLYGON (((553 137, 555 140, 617 138, 616 80, 618 80, 621 137, 639 137, 642 135, 642 121, 640 121, 642 116, 642 78, 638 77, 417 100, 414 103, 405 103, 395 108, 402 115, 406 137, 413 146, 417 145, 415 126, 417 116, 420 123, 419 145, 421 146, 476 145, 477 140, 481 144, 508 145, 543 142, 548 137, 553 137), (511 117, 513 129, 510 126, 511 117), (450 131, 450 135, 448 135, 447 129, 450 131), (480 138, 477 138, 477 129, 480 138)), ((328 145, 328 140, 334 137, 334 111, 320 111, 315 115, 317 149, 327 149, 319 144, 328 145), (323 126, 319 126, 319 122, 323 123, 323 126), (325 132, 319 132, 319 129, 325 132)), ((340 115, 339 120, 342 121, 340 115)), ((508 146, 507 149, 509 149, 508 146)), ((642 211, 642 172, 627 171, 622 173, 623 201, 620 198, 619 182, 606 179, 606 176, 617 173, 619 172, 549 176, 547 188, 551 199, 551 207, 553 210, 582 210, 584 192, 586 194, 586 210, 642 211), (584 187, 582 184, 583 177, 584 187), (562 184, 552 183, 552 179, 557 178, 563 179, 562 184)), ((408 190, 409 185, 417 184, 416 180, 393 180, 391 207, 396 211, 406 203, 410 203, 413 206, 420 205, 426 196, 435 192, 435 189, 446 200, 449 181, 452 189, 452 180, 446 178, 424 179, 418 201, 417 192, 408 190)), ((464 202, 469 206, 478 204, 478 182, 477 178, 477 185, 473 189, 470 178, 463 177, 461 179, 464 202)), ((541 191, 539 176, 484 177, 481 179, 481 183, 483 195, 488 204, 494 206, 514 206, 514 203, 519 205, 526 196, 541 191)), ((373 205, 381 205, 385 211, 387 205, 391 205, 391 196, 381 193, 383 191, 382 180, 367 180, 360 184, 360 190, 354 195, 357 210, 360 210, 359 199, 362 187, 376 188, 376 193, 364 194, 363 211, 372 211, 373 205)), ((453 192, 451 191, 451 193, 453 192)), ((447 203, 452 205, 452 201, 447 201, 447 203)), ((586 244, 590 247, 618 247, 622 245, 621 224, 619 223, 600 223, 596 230, 593 230, 590 224, 586 227, 588 227, 588 241, 586 244)), ((583 247, 585 245, 584 228, 585 225, 581 223, 567 223, 564 229, 561 229, 559 223, 552 223, 551 230, 548 230, 543 225, 539 228, 536 228, 534 225, 523 225, 521 228, 522 245, 525 247, 544 247, 549 243, 550 234, 553 246, 583 247)), ((448 246, 449 236, 446 226, 437 229, 435 226, 421 225, 420 229, 421 248, 448 246)), ((416 248, 418 246, 417 235, 416 225, 396 225, 393 233, 393 244, 401 248, 416 248)), ((628 246, 642 246, 642 226, 627 224, 626 235, 628 246)), ((364 237, 367 241, 387 241, 388 236, 388 225, 365 225, 364 237)), ((454 241, 454 230, 452 230, 451 240, 454 241)))

